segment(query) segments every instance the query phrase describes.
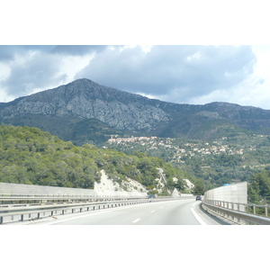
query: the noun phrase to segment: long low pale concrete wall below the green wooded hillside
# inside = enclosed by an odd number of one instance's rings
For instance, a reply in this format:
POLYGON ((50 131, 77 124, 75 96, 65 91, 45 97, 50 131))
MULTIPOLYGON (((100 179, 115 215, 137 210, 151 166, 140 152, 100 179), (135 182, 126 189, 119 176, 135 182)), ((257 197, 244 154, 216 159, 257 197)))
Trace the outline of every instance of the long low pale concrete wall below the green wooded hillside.
POLYGON ((1 195, 88 195, 88 196, 147 196, 147 193, 139 192, 103 192, 97 193, 93 189, 83 188, 70 188, 70 187, 58 187, 58 186, 45 186, 34 184, 10 184, 0 183, 0 196, 1 195))

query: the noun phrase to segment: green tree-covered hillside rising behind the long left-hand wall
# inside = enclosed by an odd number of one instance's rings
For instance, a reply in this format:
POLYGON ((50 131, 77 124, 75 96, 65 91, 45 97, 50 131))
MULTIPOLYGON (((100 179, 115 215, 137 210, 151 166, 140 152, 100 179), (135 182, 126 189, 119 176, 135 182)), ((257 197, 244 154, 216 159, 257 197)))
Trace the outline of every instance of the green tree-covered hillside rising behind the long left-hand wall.
POLYGON ((93 189, 102 174, 124 190, 132 180, 144 185, 148 193, 159 194, 175 188, 183 192, 183 179, 188 177, 181 169, 143 153, 76 147, 37 128, 0 126, 0 182, 93 189), (163 169, 166 186, 160 186, 157 168, 163 169))

